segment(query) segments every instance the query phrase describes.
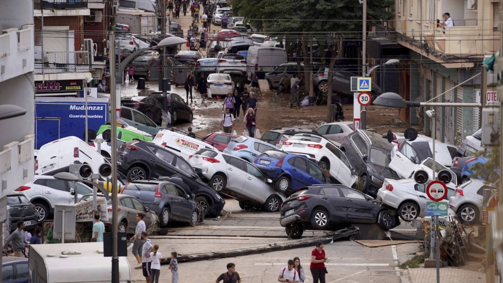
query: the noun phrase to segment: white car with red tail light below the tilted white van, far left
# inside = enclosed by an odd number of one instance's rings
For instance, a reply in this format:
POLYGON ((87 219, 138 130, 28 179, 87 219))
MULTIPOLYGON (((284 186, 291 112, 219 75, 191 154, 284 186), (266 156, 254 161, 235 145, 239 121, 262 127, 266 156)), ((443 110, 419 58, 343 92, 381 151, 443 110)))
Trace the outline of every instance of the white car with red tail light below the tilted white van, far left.
MULTIPOLYGON (((46 220, 54 212, 55 204, 72 205, 75 197, 70 194, 74 183, 54 179, 53 176, 35 175, 35 179, 16 189, 24 194, 34 205, 38 221, 46 220)), ((93 190, 85 184, 77 183, 77 199, 93 190)))

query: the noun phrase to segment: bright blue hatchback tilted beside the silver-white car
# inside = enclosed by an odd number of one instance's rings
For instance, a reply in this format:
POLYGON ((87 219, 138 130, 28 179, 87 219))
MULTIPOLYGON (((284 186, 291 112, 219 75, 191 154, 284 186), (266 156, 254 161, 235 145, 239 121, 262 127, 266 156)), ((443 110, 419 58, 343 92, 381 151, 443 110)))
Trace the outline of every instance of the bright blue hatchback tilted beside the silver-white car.
POLYGON ((316 163, 280 150, 264 152, 257 157, 255 165, 274 181, 277 190, 287 195, 303 187, 329 183, 316 163))

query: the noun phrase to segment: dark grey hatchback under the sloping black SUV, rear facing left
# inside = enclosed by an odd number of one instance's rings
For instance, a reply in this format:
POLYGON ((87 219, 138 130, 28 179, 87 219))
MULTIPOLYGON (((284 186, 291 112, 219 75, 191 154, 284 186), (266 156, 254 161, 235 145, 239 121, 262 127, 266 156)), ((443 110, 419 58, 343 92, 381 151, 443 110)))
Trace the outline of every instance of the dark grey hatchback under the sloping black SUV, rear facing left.
POLYGON ((178 184, 167 181, 132 181, 121 191, 138 198, 148 209, 159 216, 161 227, 171 221, 195 226, 198 220, 197 205, 178 184))

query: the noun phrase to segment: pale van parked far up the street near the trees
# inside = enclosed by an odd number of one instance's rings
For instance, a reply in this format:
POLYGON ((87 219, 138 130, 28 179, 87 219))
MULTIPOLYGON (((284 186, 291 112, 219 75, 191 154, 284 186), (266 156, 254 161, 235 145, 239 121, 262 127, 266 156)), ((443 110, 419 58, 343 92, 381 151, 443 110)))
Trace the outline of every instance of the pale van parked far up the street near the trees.
POLYGON ((275 66, 287 62, 286 51, 279 47, 250 46, 246 56, 246 71, 248 80, 254 72, 255 64, 264 67, 266 73, 271 72, 275 66))

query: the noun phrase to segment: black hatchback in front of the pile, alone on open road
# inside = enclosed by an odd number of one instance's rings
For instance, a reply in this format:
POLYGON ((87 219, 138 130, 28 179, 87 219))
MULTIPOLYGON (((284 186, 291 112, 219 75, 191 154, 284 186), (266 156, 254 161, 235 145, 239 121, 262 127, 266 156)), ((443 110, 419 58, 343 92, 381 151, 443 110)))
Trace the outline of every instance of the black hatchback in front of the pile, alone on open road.
POLYGON ((396 210, 344 185, 305 187, 281 204, 280 224, 291 238, 300 238, 306 228, 327 230, 352 223, 378 223, 389 230, 400 221, 396 210))

